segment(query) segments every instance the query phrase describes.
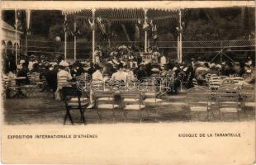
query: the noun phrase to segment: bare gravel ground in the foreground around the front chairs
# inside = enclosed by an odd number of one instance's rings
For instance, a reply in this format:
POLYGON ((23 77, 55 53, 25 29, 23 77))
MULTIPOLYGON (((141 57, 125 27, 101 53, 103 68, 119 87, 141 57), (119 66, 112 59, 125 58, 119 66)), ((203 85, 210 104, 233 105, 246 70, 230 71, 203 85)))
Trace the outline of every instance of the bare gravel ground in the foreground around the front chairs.
MULTIPOLYGON (((165 99, 162 106, 159 107, 158 114, 155 114, 154 108, 147 108, 149 116, 143 111, 142 122, 183 122, 183 121, 207 121, 205 114, 189 114, 189 108, 184 104, 184 99, 179 101, 170 101, 165 99), (173 104, 173 102, 175 102, 173 104), (157 119, 157 120, 155 120, 157 119), (192 119, 192 120, 190 120, 192 119)), ((46 92, 36 92, 31 98, 12 98, 4 100, 4 121, 7 125, 33 125, 33 124, 56 124, 63 125, 65 106, 64 101, 55 101, 53 96, 46 92)), ((220 121, 218 108, 212 107, 215 118, 210 116, 211 122, 220 121)), ((85 117, 90 124, 106 124, 121 122, 140 122, 137 111, 129 111, 126 120, 123 111, 116 110, 116 120, 112 117, 111 111, 100 110, 102 119, 98 119, 97 110, 86 111, 85 117)), ((253 108, 246 109, 246 115, 241 111, 240 120, 254 120, 255 112, 253 108)), ((75 124, 79 124, 79 111, 72 111, 71 115, 75 124)), ((236 114, 225 114, 225 121, 238 121, 236 114)), ((67 122, 69 124, 69 122, 67 122)))

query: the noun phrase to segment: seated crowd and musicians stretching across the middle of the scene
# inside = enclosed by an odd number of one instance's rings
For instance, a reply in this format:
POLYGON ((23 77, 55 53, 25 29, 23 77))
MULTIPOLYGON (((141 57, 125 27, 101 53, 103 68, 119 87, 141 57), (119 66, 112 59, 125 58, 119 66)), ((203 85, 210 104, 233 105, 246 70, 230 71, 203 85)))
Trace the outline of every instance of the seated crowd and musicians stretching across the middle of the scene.
MULTIPOLYGON (((4 61, 4 76, 26 77, 21 83, 30 83, 29 73, 40 73, 40 78, 45 78, 47 85, 53 92, 58 92, 58 80, 61 77, 69 81, 86 73, 92 80, 120 80, 143 79, 148 77, 180 78, 187 82, 187 87, 193 87, 192 80, 196 79, 198 85, 205 85, 206 74, 235 75, 249 77, 250 83, 254 82, 254 63, 248 56, 244 62, 223 63, 206 62, 199 59, 189 59, 182 64, 171 62, 165 54, 160 54, 158 48, 149 48, 147 53, 136 52, 132 47, 120 47, 104 50, 97 47, 93 55, 94 63, 64 60, 59 55, 55 59, 48 59, 44 55, 24 56, 18 65, 15 64, 13 54, 8 54, 4 61), (247 75, 247 76, 245 76, 247 75)), ((175 85, 175 83, 174 83, 175 85)), ((178 86, 178 84, 176 85, 178 86)), ((174 87, 175 88, 175 87, 174 87)), ((56 95, 55 95, 56 97, 56 95)))

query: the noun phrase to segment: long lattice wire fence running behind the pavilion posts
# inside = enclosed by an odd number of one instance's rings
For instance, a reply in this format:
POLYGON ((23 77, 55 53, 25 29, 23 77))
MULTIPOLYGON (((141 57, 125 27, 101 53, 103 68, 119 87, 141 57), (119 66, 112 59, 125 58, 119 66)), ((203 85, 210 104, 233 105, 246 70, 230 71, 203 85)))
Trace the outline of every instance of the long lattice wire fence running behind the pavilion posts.
MULTIPOLYGON (((21 40, 21 49, 26 50, 26 40, 21 40)), ((101 42, 100 45, 108 45, 107 42, 101 42)), ((111 45, 141 45, 143 47, 144 41, 112 41, 111 45)), ((149 45, 154 45, 149 42, 149 45)), ((177 41, 158 41, 156 45, 159 49, 177 49, 177 41)), ((183 50, 192 49, 218 49, 223 48, 244 48, 247 50, 254 50, 255 40, 201 40, 201 41, 183 41, 183 50)), ((31 52, 59 52, 64 53, 64 42, 58 45, 54 41, 40 41, 40 40, 27 40, 27 50, 31 52)), ((73 42, 67 42, 68 54, 73 54, 73 42)), ((92 41, 77 42, 77 54, 88 54, 92 52, 92 41)), ((184 51, 185 52, 185 51, 184 51)))

